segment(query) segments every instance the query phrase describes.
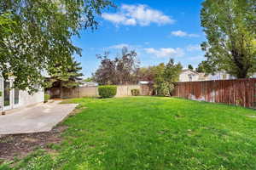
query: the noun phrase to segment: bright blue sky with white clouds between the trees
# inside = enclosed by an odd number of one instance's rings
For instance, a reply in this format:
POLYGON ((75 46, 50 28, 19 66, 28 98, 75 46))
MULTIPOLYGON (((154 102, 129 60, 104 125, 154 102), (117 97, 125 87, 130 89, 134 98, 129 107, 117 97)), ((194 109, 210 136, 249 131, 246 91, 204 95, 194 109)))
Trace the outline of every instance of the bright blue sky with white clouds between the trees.
POLYGON ((200 44, 205 35, 200 23, 202 0, 122 0, 118 8, 105 10, 96 31, 81 31, 73 42, 83 49, 84 77, 90 77, 99 66, 96 54, 110 52, 110 58, 123 46, 137 51, 141 66, 158 65, 170 58, 198 65, 204 60, 200 44))

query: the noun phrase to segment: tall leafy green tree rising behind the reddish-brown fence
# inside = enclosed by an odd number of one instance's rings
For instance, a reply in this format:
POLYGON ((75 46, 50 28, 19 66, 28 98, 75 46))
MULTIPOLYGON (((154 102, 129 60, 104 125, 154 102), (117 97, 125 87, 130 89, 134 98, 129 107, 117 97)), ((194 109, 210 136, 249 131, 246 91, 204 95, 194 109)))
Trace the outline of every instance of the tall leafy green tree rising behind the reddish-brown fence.
POLYGON ((212 71, 249 77, 256 71, 256 0, 206 0, 202 6, 207 42, 201 47, 208 65, 212 71))

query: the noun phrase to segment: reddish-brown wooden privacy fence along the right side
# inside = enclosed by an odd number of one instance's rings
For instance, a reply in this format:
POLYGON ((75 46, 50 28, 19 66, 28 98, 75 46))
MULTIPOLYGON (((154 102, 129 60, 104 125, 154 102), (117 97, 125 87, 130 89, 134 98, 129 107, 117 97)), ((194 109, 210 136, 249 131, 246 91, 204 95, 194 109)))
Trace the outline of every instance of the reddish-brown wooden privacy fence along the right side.
POLYGON ((255 108, 256 78, 177 82, 174 96, 255 108))

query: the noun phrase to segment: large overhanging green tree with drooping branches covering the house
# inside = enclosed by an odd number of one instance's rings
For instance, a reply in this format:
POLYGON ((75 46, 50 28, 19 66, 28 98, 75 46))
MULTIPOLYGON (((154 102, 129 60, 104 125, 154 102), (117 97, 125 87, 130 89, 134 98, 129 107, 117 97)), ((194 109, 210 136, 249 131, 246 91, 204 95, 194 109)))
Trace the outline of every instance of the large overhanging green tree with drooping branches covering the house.
POLYGON ((44 86, 43 72, 69 65, 80 54, 72 37, 83 28, 96 29, 96 15, 112 5, 108 0, 0 1, 0 71, 15 77, 15 88, 44 86))

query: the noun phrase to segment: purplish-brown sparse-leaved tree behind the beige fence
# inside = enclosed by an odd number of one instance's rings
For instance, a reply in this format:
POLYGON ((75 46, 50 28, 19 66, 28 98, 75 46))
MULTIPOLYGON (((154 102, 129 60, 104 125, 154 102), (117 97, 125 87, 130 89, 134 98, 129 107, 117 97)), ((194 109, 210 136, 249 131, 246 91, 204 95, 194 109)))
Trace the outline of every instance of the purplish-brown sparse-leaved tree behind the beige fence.
POLYGON ((101 85, 137 83, 139 63, 135 51, 123 48, 121 56, 114 59, 109 59, 108 55, 109 53, 97 55, 101 59, 101 65, 93 75, 94 81, 101 85))

